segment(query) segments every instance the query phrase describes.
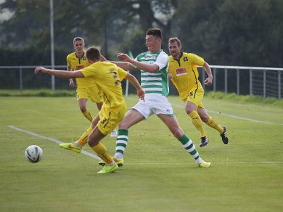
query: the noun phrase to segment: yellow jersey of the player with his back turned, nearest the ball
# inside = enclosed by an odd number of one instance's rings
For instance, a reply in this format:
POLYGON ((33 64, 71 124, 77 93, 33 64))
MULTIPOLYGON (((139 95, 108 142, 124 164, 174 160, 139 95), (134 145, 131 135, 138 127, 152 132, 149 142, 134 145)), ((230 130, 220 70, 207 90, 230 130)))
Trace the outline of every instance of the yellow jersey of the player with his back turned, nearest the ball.
POLYGON ((83 76, 95 81, 102 93, 105 107, 112 108, 125 104, 121 81, 127 76, 127 71, 106 61, 98 61, 80 71, 83 76))

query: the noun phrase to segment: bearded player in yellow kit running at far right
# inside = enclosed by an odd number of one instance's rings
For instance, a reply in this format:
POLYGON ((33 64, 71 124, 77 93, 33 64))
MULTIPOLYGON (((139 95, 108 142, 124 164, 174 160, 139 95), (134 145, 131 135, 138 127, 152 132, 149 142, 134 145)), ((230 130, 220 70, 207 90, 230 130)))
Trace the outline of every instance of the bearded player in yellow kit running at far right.
POLYGON ((192 119, 192 124, 200 131, 200 147, 206 146, 209 143, 202 122, 219 131, 223 143, 227 144, 229 139, 226 135, 225 126, 217 124, 207 114, 207 110, 205 110, 202 104, 204 89, 198 79, 197 66, 204 67, 204 71, 207 72, 208 76, 204 80, 204 85, 210 86, 212 85, 213 77, 209 64, 196 54, 181 52, 182 46, 178 37, 171 37, 168 40, 168 48, 171 54, 169 57, 168 76, 177 88, 180 98, 185 102, 185 111, 192 119))

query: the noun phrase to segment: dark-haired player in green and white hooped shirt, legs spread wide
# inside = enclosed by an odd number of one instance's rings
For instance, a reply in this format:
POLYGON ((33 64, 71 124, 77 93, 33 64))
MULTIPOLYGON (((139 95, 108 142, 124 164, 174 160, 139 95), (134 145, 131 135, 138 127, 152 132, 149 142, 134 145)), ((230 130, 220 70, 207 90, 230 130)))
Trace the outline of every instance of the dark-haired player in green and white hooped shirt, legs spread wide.
MULTIPOLYGON (((148 52, 139 54, 135 59, 131 59, 127 54, 118 53, 117 57, 124 61, 111 61, 125 70, 133 69, 134 66, 140 69, 141 88, 146 92, 144 100, 139 100, 119 124, 116 153, 113 159, 119 166, 124 164, 123 154, 129 138, 129 127, 148 119, 151 114, 156 114, 168 126, 175 138, 183 144, 185 150, 192 155, 197 165, 209 167, 211 163, 200 158, 192 140, 180 128, 173 108, 166 97, 168 95, 168 54, 161 49, 161 41, 161 30, 150 28, 146 32, 148 52)), ((105 165, 103 161, 100 161, 99 164, 105 165)))

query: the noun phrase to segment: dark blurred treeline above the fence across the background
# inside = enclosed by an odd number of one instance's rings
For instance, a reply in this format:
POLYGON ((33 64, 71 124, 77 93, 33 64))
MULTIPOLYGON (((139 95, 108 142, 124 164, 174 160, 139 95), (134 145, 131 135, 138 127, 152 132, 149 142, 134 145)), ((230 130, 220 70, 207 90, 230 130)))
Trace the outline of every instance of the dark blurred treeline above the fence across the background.
MULTIPOLYGON (((50 64, 50 1, 5 1, 0 23, 0 65, 50 64)), ((72 40, 84 37, 109 59, 146 50, 147 28, 180 37, 185 52, 209 64, 283 66, 282 0, 54 1, 55 63, 66 64, 72 40)))

